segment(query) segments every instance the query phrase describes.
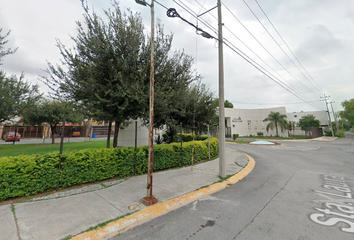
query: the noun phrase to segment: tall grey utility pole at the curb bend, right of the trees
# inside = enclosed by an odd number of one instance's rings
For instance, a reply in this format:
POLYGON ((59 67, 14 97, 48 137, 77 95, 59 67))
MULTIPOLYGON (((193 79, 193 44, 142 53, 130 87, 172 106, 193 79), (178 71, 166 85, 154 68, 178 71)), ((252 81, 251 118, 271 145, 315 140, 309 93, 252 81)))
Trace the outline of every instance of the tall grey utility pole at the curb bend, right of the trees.
POLYGON ((221 1, 218 0, 218 39, 219 39, 219 175, 226 177, 225 168, 225 107, 224 107, 224 55, 222 36, 221 1))

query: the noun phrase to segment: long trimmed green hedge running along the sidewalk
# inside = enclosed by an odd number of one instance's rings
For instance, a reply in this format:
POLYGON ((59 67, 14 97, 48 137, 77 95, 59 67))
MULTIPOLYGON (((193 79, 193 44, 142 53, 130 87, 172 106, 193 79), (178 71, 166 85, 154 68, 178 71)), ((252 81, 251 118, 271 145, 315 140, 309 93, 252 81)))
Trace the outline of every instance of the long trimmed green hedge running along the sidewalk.
MULTIPOLYGON (((192 161, 192 142, 183 143, 183 164, 192 161)), ((208 140, 195 141, 194 161, 208 158, 208 140)), ((210 138, 210 155, 218 155, 210 138)), ((134 147, 85 149, 63 153, 60 188, 134 175, 134 147)), ((137 149, 137 174, 147 173, 148 147, 137 149)), ((54 190, 59 179, 59 153, 0 158, 0 200, 54 190)), ((154 171, 181 167, 180 143, 154 145, 154 171)))

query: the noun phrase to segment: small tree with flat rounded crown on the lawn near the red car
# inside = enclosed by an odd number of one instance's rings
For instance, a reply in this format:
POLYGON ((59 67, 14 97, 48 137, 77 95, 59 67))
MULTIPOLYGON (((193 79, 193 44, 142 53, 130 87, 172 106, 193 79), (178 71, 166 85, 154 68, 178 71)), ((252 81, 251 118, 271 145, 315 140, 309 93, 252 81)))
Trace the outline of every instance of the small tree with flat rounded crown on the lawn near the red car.
POLYGON ((83 111, 72 102, 42 99, 42 101, 23 112, 22 122, 32 126, 43 123, 50 125, 52 144, 55 143, 56 126, 60 123, 82 123, 83 111))

